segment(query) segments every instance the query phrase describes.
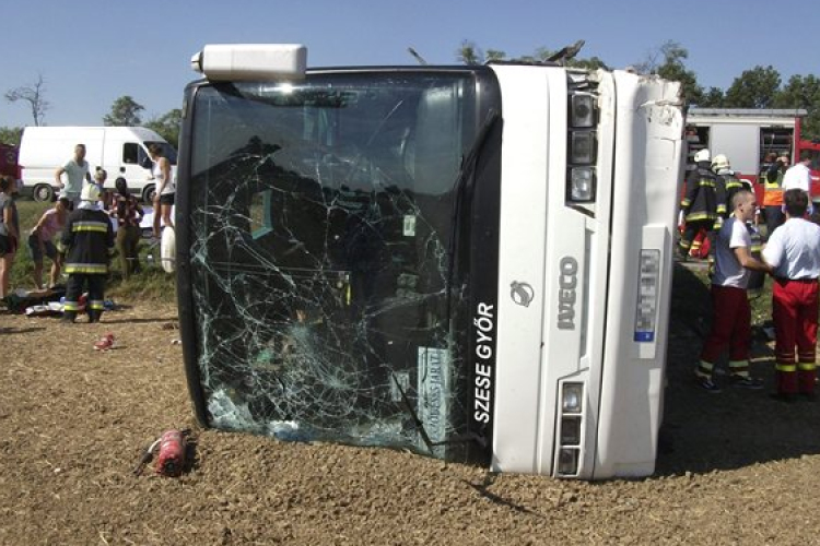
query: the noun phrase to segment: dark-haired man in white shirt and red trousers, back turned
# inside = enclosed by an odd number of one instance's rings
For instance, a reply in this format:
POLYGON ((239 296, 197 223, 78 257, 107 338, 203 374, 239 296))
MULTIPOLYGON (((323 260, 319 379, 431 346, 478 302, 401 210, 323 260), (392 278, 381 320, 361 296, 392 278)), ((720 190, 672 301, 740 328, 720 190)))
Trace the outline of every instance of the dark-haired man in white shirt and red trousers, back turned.
POLYGON ((797 394, 815 396, 820 226, 804 218, 809 200, 801 189, 785 191, 783 202, 786 223, 769 238, 763 260, 772 266, 775 278, 772 316, 777 392, 774 396, 792 402, 797 394))

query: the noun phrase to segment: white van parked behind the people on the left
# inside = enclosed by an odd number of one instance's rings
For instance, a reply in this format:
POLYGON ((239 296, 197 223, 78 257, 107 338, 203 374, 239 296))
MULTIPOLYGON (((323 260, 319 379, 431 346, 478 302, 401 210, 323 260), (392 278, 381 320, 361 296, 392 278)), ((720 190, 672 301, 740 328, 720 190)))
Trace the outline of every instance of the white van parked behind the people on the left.
POLYGON ((21 194, 35 201, 55 199, 60 190, 55 171, 74 156, 77 144, 85 144, 92 176, 97 167, 104 168, 108 173, 105 187, 110 189, 117 177, 125 177, 131 193, 151 202, 154 180, 148 146, 153 143, 164 147, 175 175, 176 150, 144 127, 26 127, 20 142, 21 194))

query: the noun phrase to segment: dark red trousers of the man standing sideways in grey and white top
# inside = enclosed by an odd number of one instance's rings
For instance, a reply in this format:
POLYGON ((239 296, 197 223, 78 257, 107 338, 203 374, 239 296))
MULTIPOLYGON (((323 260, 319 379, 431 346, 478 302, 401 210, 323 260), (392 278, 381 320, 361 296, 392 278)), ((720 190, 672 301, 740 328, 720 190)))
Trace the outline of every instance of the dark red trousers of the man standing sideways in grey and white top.
POLYGON ((745 288, 712 285, 712 332, 701 351, 701 360, 714 364, 726 346, 729 360, 749 359, 751 308, 745 288))

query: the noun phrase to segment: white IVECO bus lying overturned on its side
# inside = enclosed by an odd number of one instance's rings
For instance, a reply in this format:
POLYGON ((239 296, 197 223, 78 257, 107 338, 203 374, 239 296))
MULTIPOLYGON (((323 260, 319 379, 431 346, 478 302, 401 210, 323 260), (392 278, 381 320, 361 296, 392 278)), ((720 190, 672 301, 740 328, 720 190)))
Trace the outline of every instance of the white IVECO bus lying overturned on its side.
POLYGON ((560 64, 191 63, 177 294, 199 422, 494 471, 645 476, 679 84, 560 64))

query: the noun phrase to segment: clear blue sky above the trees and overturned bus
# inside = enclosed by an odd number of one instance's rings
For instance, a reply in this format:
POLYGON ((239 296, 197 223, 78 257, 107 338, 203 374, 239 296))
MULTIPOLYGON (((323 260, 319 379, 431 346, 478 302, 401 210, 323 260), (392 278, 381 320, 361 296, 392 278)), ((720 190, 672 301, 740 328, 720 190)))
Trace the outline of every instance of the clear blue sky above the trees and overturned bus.
MULTIPOLYGON (((45 124, 99 126, 124 95, 147 121, 181 106, 206 44, 303 44, 308 67, 330 67, 415 64, 408 47, 453 64, 465 40, 519 57, 578 39, 578 57, 612 68, 677 41, 701 85, 726 90, 755 66, 784 83, 819 75, 818 28, 817 0, 14 0, 3 7, 0 94, 42 75, 45 124)), ((0 127, 32 123, 27 103, 0 96, 0 127)))

